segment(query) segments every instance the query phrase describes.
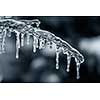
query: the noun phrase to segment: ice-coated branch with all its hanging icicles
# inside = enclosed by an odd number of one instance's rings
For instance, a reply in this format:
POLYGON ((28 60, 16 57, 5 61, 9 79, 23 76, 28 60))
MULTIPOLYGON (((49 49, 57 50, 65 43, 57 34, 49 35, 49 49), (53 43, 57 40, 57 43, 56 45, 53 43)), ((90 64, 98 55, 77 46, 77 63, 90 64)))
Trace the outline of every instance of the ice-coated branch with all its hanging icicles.
POLYGON ((16 59, 19 58, 19 49, 24 46, 26 37, 27 45, 30 43, 30 37, 33 38, 33 52, 37 48, 44 49, 46 45, 51 48, 53 44, 56 45, 56 69, 59 69, 59 54, 67 55, 67 68, 69 72, 71 57, 75 58, 77 79, 79 79, 80 64, 84 62, 84 57, 66 41, 55 36, 53 33, 39 28, 40 21, 34 20, 15 20, 9 16, 0 17, 0 54, 5 53, 6 37, 11 37, 12 34, 16 36, 16 59))

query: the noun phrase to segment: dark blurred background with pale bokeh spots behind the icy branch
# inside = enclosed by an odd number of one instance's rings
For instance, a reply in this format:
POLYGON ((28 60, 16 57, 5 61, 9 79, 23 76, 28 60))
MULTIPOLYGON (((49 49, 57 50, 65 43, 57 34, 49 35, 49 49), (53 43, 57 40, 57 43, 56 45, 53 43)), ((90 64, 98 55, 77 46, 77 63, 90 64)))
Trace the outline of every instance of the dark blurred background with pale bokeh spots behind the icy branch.
MULTIPOLYGON (((6 53, 0 55, 0 81, 3 83, 77 83, 100 82, 100 17, 14 16, 15 19, 39 19, 40 28, 50 31, 79 50, 85 57, 76 79, 76 63, 71 59, 66 72, 66 55, 60 55, 60 69, 56 70, 55 47, 32 52, 32 44, 20 49, 15 58, 15 36, 7 38, 6 53)), ((31 42, 32 40, 30 40, 31 42)))

